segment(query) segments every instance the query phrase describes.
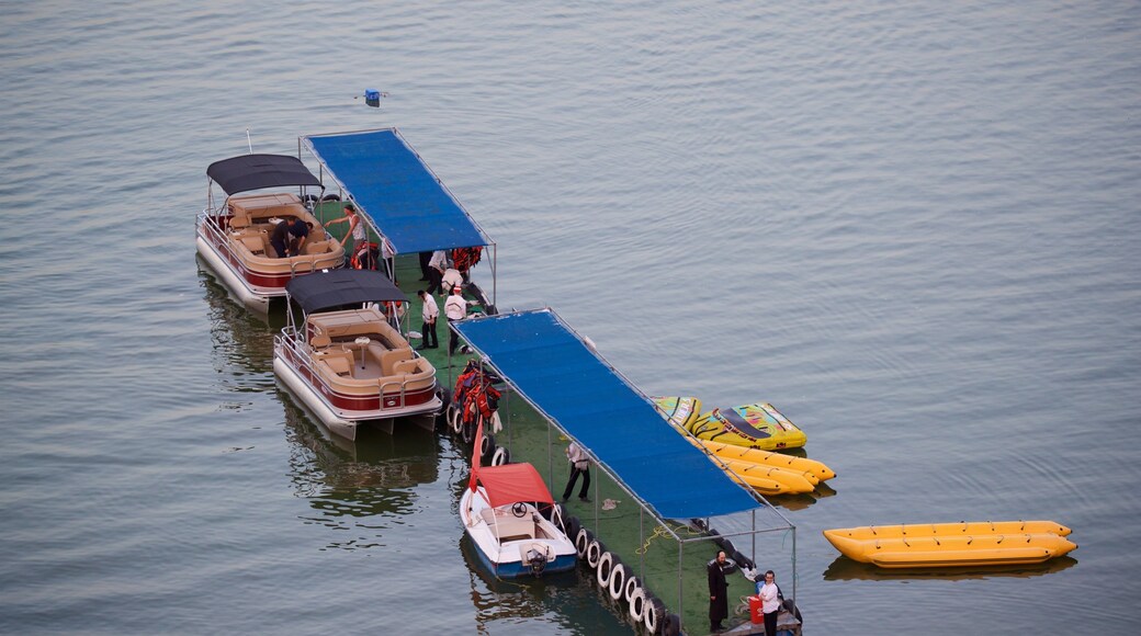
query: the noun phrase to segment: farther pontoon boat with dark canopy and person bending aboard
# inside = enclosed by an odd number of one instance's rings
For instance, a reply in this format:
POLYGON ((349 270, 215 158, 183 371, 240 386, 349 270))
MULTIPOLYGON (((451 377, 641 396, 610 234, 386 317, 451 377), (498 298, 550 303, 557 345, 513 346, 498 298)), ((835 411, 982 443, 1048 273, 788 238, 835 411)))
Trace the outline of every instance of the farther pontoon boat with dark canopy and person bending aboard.
POLYGON ((197 215, 195 245, 202 260, 246 307, 268 311, 270 299, 285 295, 288 282, 345 262, 345 248, 306 204, 317 199, 307 190, 322 191, 323 187, 299 158, 240 155, 210 164, 207 177, 207 206, 197 215), (225 197, 215 196, 216 185, 225 197), (278 254, 274 247, 273 231, 283 222, 307 228, 300 254, 278 254))

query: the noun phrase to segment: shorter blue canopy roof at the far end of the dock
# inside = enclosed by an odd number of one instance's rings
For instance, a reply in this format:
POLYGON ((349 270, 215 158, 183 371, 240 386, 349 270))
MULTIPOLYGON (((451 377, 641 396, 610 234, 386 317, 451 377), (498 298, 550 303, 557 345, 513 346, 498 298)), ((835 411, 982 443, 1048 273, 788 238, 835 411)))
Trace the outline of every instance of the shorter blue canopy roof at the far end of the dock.
POLYGON ((396 129, 301 139, 398 254, 491 245, 396 129))

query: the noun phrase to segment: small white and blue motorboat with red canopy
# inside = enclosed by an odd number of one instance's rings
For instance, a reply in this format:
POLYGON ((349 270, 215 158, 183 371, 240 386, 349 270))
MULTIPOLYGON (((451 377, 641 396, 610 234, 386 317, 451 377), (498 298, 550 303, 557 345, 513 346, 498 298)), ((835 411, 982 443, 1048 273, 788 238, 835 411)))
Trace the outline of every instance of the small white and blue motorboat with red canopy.
POLYGON ((539 471, 527 463, 480 466, 483 423, 476 430, 471 480, 460 498, 463 531, 480 563, 501 579, 564 572, 575 566, 578 551, 540 507, 555 498, 539 471))

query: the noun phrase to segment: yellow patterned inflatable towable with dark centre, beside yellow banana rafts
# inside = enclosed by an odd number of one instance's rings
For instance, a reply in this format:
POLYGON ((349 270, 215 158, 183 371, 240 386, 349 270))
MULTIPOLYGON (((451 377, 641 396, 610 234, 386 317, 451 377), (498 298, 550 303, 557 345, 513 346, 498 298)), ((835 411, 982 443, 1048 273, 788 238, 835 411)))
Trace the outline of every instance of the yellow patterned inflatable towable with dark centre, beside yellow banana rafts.
POLYGON ((703 440, 776 450, 804 446, 808 437, 770 403, 715 408, 688 426, 703 440))

